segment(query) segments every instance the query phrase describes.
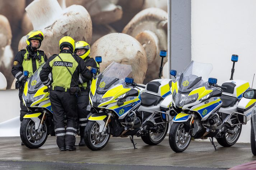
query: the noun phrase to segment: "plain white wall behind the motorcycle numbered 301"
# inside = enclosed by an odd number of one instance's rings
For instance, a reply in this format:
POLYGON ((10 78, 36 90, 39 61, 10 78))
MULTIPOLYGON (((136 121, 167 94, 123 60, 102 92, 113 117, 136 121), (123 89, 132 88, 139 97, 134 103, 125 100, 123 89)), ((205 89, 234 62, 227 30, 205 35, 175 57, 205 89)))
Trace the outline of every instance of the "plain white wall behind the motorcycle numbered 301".
MULTIPOLYGON (((229 80, 231 55, 239 55, 234 79, 251 86, 256 73, 255 0, 192 0, 191 53, 192 60, 213 64, 210 77, 218 84, 229 80)), ((239 141, 250 142, 250 122, 243 126, 239 141)))

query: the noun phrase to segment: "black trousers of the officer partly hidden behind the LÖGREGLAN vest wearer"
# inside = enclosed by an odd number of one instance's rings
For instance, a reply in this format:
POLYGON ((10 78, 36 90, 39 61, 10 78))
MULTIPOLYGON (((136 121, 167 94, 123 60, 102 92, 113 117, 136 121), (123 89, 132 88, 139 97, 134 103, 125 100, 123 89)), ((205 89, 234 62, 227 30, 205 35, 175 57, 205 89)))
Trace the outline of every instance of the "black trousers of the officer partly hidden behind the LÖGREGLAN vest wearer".
POLYGON ((87 116, 90 113, 86 110, 87 105, 89 105, 89 91, 81 91, 81 95, 78 96, 77 99, 78 121, 81 138, 84 137, 84 128, 87 125, 87 116))

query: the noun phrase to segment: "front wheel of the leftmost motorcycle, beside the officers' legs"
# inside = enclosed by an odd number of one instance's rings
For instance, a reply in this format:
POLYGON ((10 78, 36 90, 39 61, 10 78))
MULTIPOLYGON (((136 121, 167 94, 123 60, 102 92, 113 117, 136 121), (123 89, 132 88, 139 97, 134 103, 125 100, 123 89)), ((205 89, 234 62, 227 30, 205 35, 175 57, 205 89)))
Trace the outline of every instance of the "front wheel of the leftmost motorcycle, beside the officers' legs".
POLYGON ((37 149, 45 144, 48 137, 48 127, 46 123, 41 132, 35 130, 35 122, 31 119, 23 119, 20 125, 20 139, 23 144, 30 149, 37 149))

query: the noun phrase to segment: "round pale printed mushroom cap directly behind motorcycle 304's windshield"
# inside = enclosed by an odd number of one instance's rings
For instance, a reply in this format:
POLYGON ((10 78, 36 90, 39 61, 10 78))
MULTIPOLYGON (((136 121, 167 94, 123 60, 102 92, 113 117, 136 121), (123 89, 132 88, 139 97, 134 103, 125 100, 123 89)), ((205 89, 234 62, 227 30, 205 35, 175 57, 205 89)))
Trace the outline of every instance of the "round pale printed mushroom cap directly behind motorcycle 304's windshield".
POLYGON ((101 71, 113 61, 130 64, 134 81, 143 82, 148 67, 146 52, 135 38, 122 33, 107 34, 98 39, 90 50, 92 57, 102 56, 101 71))

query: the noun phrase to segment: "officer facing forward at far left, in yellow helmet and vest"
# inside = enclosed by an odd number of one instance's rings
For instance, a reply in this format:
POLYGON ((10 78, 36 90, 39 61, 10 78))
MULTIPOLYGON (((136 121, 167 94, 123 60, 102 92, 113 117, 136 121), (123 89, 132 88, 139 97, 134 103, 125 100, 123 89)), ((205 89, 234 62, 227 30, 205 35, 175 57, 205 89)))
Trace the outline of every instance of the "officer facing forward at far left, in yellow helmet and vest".
POLYGON ((44 62, 47 61, 45 53, 40 48, 43 40, 43 33, 39 30, 30 31, 27 35, 27 47, 20 50, 13 62, 13 68, 11 73, 15 78, 17 78, 16 88, 19 89, 19 99, 20 99, 20 121, 23 120, 23 116, 28 113, 27 107, 23 105, 22 94, 24 90, 24 83, 44 62), (29 76, 23 75, 23 71, 28 71, 29 76))

